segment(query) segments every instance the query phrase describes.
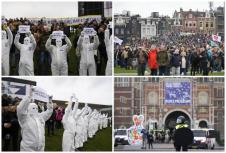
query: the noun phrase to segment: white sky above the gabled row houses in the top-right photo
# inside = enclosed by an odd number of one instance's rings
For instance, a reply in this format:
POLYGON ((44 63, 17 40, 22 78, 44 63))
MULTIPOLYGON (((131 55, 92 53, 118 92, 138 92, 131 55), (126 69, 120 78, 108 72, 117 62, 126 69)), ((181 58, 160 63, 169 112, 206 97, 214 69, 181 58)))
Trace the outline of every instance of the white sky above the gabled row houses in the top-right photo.
MULTIPOLYGON (((214 0, 214 8, 224 6, 223 1, 214 0)), ((159 12, 160 15, 172 17, 175 10, 207 10, 209 3, 207 0, 139 0, 139 1, 117 1, 113 3, 114 13, 122 13, 123 10, 131 11, 131 14, 140 14, 141 17, 149 17, 151 12, 159 12)))

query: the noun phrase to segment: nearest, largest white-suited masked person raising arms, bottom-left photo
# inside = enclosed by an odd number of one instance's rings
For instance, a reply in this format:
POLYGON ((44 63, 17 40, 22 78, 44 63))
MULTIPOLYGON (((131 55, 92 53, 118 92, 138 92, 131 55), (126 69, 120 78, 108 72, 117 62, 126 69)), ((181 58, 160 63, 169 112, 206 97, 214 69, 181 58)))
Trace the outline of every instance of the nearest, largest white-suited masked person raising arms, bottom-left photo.
POLYGON ((44 151, 45 148, 45 122, 53 112, 52 96, 49 97, 47 110, 39 113, 38 106, 29 96, 23 98, 17 106, 17 116, 21 127, 22 140, 20 151, 44 151))

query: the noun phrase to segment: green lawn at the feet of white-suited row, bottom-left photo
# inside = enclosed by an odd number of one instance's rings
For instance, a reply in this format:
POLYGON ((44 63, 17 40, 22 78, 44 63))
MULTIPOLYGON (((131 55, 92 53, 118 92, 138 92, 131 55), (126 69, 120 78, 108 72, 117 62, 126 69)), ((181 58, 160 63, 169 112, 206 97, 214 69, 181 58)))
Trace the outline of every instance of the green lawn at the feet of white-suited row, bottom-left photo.
MULTIPOLYGON (((45 151, 62 151, 63 129, 55 131, 54 136, 47 136, 45 151)), ((92 139, 85 142, 80 151, 112 151, 112 128, 100 130, 92 139)))

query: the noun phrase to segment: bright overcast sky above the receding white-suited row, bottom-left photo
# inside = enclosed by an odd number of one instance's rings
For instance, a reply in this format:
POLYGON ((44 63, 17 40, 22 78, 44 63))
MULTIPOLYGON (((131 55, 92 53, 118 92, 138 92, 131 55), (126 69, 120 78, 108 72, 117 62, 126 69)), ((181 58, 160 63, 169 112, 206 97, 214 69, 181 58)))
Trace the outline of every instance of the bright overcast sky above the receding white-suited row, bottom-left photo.
POLYGON ((37 82, 54 100, 69 101, 72 93, 81 102, 112 105, 111 77, 20 77, 37 82))

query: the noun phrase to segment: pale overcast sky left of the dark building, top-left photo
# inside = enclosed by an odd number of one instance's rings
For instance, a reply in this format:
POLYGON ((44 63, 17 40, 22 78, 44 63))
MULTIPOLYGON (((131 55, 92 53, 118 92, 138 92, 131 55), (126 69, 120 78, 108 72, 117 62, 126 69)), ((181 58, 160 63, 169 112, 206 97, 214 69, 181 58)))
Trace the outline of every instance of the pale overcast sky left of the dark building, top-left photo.
POLYGON ((78 3, 74 2, 2 2, 2 15, 16 17, 77 17, 78 3))

